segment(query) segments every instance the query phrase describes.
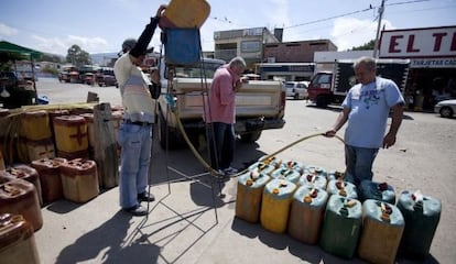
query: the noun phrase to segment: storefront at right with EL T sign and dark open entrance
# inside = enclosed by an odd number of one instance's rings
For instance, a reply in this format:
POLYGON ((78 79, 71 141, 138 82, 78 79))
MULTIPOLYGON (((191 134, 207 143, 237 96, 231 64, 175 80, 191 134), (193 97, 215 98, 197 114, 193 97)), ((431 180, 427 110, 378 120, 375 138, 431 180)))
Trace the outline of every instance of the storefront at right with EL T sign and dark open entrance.
POLYGON ((410 58, 409 110, 430 111, 456 99, 456 25, 382 31, 380 58, 410 58))

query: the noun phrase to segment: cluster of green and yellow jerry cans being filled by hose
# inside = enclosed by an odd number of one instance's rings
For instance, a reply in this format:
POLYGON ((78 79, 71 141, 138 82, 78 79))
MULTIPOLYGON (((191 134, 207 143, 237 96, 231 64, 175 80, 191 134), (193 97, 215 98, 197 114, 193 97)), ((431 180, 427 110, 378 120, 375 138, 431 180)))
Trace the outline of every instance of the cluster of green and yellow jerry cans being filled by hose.
POLYGON ((399 250, 427 256, 441 216, 437 199, 402 191, 395 202, 386 183, 357 188, 337 176, 300 162, 258 162, 238 177, 236 216, 346 258, 358 253, 371 263, 394 263, 399 250))

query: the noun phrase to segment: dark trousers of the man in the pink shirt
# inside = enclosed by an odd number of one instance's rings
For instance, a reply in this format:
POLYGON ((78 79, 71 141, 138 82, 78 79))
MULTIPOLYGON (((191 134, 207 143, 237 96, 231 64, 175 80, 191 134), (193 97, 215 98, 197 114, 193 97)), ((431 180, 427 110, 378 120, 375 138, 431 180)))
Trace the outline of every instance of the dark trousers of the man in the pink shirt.
POLYGON ((231 165, 235 157, 235 127, 228 123, 214 122, 207 124, 210 166, 224 169, 231 165))

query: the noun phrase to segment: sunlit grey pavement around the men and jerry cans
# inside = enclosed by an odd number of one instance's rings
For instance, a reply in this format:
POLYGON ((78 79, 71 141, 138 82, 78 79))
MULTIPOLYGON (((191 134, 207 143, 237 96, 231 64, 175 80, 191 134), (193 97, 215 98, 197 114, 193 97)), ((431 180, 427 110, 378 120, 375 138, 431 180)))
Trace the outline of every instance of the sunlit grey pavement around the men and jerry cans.
MULTIPOLYGON (((39 94, 46 95, 52 103, 85 101, 87 91, 97 92, 101 101, 120 102, 115 87, 89 88, 51 80, 37 84, 39 94)), ((256 144, 238 144, 235 165, 242 167, 303 136, 325 131, 338 112, 338 108, 317 109, 305 101, 289 100, 285 128, 265 131, 256 144)), ((456 119, 406 112, 397 145, 381 150, 374 163, 374 179, 388 182, 397 195, 420 189, 442 200, 430 263, 456 260, 455 132, 456 119)), ((343 169, 343 155, 339 141, 322 136, 279 154, 283 160, 327 169, 343 169)), ((358 258, 340 260, 318 246, 236 219, 236 179, 221 184, 225 197, 215 196, 213 200, 210 189, 184 182, 166 167, 187 175, 203 172, 188 150, 164 152, 155 143, 151 180, 158 202, 151 204, 149 218, 119 212, 118 188, 105 190, 84 205, 62 200, 43 208, 44 226, 35 233, 42 263, 362 263, 358 258), (169 186, 170 179, 176 183, 169 186)), ((208 178, 202 180, 211 186, 208 178)), ((214 186, 217 190, 218 185, 214 186)), ((400 263, 410 262, 400 258, 400 263)))

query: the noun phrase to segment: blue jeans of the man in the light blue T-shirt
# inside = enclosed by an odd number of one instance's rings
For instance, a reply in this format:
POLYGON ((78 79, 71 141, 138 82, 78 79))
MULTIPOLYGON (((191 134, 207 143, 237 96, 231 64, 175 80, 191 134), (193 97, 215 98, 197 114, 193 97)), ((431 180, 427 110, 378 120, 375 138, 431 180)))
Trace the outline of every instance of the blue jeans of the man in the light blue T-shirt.
POLYGON ((347 166, 345 179, 358 186, 361 180, 372 180, 372 164, 379 148, 345 146, 345 164, 347 166))

